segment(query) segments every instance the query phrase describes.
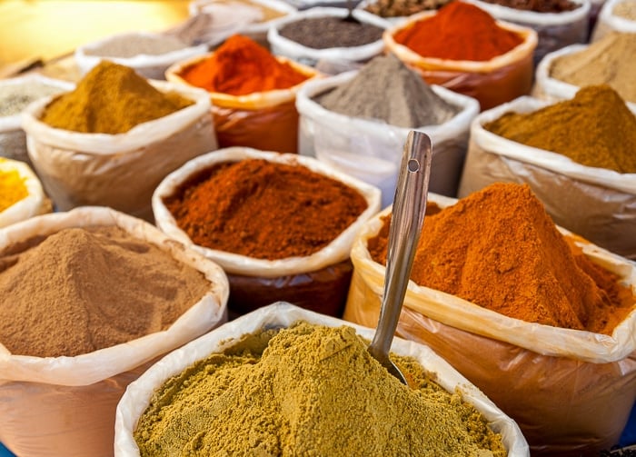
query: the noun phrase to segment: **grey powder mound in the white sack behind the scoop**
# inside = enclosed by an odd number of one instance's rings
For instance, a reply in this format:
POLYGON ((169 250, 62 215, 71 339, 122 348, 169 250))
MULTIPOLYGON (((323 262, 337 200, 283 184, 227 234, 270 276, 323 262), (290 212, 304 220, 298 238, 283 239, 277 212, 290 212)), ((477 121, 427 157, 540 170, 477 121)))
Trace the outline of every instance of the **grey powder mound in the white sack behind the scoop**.
POLYGON ((443 124, 460 111, 395 55, 381 55, 353 79, 314 99, 324 108, 403 128, 443 124))

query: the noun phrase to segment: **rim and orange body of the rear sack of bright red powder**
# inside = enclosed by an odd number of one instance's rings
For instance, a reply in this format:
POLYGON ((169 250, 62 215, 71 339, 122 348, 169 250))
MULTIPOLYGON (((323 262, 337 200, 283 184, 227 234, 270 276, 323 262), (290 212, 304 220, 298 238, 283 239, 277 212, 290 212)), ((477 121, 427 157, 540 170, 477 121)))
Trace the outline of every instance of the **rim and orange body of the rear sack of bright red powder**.
POLYGON ((485 62, 422 57, 393 40, 393 35, 398 31, 436 14, 435 11, 417 13, 386 30, 383 35, 386 48, 417 70, 428 84, 442 85, 454 92, 472 96, 479 101, 482 110, 530 94, 534 73, 532 55, 537 47, 537 33, 532 28, 497 21, 500 27, 521 35, 523 42, 485 62))

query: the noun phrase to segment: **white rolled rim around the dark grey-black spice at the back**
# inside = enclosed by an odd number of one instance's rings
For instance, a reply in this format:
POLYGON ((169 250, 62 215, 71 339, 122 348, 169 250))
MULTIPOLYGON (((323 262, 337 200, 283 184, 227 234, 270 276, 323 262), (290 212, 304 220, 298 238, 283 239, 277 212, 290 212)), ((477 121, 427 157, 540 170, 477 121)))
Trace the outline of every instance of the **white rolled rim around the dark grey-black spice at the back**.
MULTIPOLYGON (((284 55, 305 65, 315 66, 319 62, 344 65, 345 63, 366 62, 376 55, 383 53, 383 40, 360 46, 329 47, 325 49, 315 49, 296 43, 289 38, 279 34, 284 25, 298 22, 303 19, 313 19, 317 17, 346 17, 349 11, 345 8, 317 6, 305 11, 300 11, 293 15, 288 15, 271 27, 267 32, 267 40, 275 55, 284 55)), ((380 16, 372 15, 360 9, 352 10, 353 17, 364 24, 375 25, 386 29, 391 23, 380 16)))

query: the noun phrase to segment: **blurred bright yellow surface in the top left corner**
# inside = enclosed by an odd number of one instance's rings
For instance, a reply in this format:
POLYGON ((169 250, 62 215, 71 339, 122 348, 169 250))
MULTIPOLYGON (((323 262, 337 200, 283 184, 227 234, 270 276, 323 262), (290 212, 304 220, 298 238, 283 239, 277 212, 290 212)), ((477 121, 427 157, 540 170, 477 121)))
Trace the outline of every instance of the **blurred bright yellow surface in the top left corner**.
POLYGON ((188 17, 189 0, 0 0, 0 68, 72 53, 115 33, 163 31, 188 17))

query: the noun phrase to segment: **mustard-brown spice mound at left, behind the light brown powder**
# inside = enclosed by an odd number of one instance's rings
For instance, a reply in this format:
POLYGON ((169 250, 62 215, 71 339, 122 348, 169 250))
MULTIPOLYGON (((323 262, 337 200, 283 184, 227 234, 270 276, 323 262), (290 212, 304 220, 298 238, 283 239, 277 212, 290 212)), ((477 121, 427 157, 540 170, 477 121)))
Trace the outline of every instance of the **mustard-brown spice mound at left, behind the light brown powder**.
POLYGON ((104 60, 74 91, 48 104, 40 120, 84 134, 124 134, 191 104, 179 94, 158 91, 132 68, 104 60))

